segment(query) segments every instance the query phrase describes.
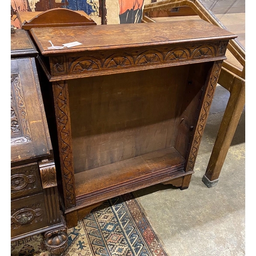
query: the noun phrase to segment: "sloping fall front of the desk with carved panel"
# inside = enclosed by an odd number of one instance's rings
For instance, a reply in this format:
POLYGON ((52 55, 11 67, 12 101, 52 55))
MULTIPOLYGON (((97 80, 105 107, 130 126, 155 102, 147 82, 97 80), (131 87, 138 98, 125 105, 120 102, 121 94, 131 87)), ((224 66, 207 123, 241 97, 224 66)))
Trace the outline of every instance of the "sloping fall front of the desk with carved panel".
POLYGON ((34 72, 34 59, 11 60, 12 162, 50 154, 34 72))

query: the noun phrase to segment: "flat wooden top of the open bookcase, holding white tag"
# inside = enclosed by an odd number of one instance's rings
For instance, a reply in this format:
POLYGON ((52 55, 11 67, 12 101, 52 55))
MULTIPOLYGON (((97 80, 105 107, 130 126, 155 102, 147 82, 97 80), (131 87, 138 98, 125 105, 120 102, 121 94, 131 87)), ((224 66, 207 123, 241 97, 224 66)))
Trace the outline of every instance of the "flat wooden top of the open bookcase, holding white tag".
POLYGON ((45 27, 30 30, 42 55, 82 51, 135 48, 206 40, 229 40, 237 36, 204 20, 163 23, 117 24, 76 27, 45 27), (49 50, 78 41, 79 46, 49 50))

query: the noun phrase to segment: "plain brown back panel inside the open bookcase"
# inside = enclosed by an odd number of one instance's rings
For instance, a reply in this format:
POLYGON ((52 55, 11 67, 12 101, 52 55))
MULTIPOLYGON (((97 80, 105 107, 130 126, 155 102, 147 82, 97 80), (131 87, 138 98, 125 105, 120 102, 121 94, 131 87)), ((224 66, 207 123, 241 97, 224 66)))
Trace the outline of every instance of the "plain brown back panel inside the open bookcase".
POLYGON ((188 72, 178 66, 70 80, 75 173, 174 146, 188 72))

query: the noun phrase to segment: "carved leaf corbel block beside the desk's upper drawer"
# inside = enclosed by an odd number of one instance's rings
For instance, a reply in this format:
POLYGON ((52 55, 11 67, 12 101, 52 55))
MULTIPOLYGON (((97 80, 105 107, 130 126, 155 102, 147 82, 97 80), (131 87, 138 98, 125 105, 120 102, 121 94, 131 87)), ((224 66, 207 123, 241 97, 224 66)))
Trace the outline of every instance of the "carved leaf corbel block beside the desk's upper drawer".
POLYGON ((57 186, 54 161, 39 163, 39 169, 43 188, 57 186))

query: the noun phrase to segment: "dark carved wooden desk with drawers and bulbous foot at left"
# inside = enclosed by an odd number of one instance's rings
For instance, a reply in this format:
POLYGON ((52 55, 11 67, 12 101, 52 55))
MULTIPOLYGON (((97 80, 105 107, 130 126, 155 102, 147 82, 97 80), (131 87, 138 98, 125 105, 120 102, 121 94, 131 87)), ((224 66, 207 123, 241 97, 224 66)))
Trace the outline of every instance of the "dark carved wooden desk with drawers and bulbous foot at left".
POLYGON ((24 30, 11 34, 11 241, 45 234, 52 255, 67 247, 56 168, 37 77, 37 51, 24 30))

